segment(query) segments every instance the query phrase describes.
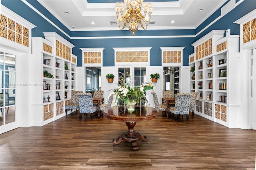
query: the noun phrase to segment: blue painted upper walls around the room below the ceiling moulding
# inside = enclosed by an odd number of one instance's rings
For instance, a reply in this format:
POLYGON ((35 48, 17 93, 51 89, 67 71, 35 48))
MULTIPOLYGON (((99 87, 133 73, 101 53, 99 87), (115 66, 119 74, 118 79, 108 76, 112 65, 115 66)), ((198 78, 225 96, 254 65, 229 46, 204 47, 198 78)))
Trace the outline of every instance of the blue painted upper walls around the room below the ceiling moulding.
MULTIPOLYGON (((60 29, 62 29, 68 36, 74 37, 102 37, 101 39, 72 39, 70 40, 60 30, 52 26, 47 20, 42 18, 29 6, 24 4, 21 0, 2 0, 1 4, 14 11, 16 14, 22 16, 37 28, 32 29, 32 37, 43 37, 43 32, 56 32, 69 42, 73 43, 76 47, 73 48, 72 53, 78 57, 78 66, 82 66, 82 51, 80 48, 96 48, 104 47, 103 51, 103 66, 114 66, 114 50, 113 47, 135 47, 140 44, 139 47, 152 47, 150 50, 150 65, 160 66, 161 61, 161 49, 160 47, 185 47, 183 50, 183 65, 188 65, 188 55, 194 52, 191 44, 208 32, 212 30, 227 30, 231 29, 231 34, 239 34, 239 25, 233 22, 248 14, 252 10, 256 9, 255 0, 245 0, 234 8, 231 12, 220 18, 212 26, 200 33, 196 38, 115 38, 110 39, 109 36, 131 36, 131 32, 127 30, 118 31, 86 31, 86 32, 71 32, 60 21, 58 21, 48 10, 46 10, 38 1, 28 0, 29 4, 34 6, 49 20, 54 22, 60 29), (134 45, 131 45, 134 44, 134 45)), ((238 2, 238 1, 236 1, 238 2)), ((220 9, 218 9, 212 16, 204 21, 200 26, 194 30, 138 30, 135 36, 194 36, 209 23, 220 16, 220 9)))

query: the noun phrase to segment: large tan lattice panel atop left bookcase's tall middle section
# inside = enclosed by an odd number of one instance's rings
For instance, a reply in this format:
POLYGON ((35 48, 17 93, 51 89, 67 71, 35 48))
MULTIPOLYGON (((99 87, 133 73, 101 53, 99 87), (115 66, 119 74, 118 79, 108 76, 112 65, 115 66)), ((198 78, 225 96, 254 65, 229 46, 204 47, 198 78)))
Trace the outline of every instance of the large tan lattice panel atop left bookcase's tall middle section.
POLYGON ((56 40, 55 41, 56 46, 56 55, 64 58, 68 61, 71 61, 71 48, 67 45, 63 44, 62 42, 56 40))

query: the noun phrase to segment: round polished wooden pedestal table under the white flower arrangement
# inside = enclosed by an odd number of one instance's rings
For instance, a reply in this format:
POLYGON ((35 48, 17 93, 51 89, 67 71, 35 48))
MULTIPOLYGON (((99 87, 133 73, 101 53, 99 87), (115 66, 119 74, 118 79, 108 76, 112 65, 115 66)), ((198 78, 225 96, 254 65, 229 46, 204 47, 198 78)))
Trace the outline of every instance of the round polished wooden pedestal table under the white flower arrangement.
POLYGON ((109 107, 102 112, 104 117, 117 121, 125 121, 128 130, 123 132, 118 139, 113 140, 113 144, 119 144, 122 141, 132 142, 132 150, 139 150, 137 140, 148 141, 147 136, 141 136, 134 131, 137 121, 148 121, 158 117, 159 110, 153 107, 135 106, 134 111, 128 112, 126 106, 109 107))

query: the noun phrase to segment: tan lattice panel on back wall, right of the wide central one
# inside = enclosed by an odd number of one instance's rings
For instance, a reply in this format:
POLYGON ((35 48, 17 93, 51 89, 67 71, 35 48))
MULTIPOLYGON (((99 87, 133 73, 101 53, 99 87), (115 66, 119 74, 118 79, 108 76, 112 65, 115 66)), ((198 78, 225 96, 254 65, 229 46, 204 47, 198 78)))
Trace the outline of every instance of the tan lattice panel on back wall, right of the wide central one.
POLYGON ((181 51, 163 51, 164 63, 181 63, 181 51))

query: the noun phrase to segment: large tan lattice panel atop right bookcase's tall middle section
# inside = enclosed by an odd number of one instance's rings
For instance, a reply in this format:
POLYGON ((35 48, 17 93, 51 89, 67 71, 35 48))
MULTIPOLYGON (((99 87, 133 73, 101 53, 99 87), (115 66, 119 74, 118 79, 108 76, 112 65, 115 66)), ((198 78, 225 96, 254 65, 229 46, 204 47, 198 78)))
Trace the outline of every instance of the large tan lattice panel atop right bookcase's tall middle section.
POLYGON ((196 46, 196 60, 212 54, 212 38, 196 46))

